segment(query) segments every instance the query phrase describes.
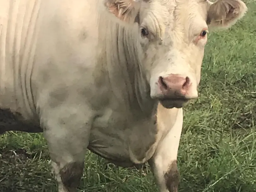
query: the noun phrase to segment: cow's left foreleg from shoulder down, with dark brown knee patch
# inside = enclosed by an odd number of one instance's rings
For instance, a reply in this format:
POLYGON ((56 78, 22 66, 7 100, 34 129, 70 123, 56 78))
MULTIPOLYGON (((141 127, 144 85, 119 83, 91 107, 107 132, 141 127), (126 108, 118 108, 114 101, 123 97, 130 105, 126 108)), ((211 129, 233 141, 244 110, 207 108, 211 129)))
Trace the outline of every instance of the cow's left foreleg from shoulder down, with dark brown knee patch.
POLYGON ((58 112, 49 113, 54 114, 54 118, 47 116, 44 122, 44 137, 48 143, 53 172, 58 182, 58 192, 77 190, 89 142, 90 122, 86 121, 84 111, 72 108, 68 110, 61 110, 63 117, 58 112), (69 113, 72 110, 75 114, 69 113))

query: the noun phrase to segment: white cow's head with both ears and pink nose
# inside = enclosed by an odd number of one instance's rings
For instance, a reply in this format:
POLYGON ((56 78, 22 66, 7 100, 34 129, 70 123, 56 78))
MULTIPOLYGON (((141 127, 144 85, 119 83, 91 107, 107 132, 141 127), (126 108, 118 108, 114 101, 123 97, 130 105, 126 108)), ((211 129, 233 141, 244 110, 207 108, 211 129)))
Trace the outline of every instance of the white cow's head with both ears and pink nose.
POLYGON ((228 28, 247 7, 241 0, 107 0, 109 10, 137 22, 150 96, 166 108, 197 98, 207 34, 228 28))

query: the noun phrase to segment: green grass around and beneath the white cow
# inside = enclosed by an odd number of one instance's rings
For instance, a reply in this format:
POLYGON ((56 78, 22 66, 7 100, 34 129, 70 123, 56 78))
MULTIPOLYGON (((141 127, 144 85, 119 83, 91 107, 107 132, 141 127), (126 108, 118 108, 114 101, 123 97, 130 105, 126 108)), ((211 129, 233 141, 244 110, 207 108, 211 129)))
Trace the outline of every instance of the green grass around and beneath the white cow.
MULTIPOLYGON (((179 192, 256 191, 256 2, 228 31, 212 33, 200 98, 185 108, 178 152, 179 192)), ((1 192, 56 192, 42 134, 0 136, 1 192)), ((158 191, 148 165, 115 167, 88 151, 84 192, 158 191)))

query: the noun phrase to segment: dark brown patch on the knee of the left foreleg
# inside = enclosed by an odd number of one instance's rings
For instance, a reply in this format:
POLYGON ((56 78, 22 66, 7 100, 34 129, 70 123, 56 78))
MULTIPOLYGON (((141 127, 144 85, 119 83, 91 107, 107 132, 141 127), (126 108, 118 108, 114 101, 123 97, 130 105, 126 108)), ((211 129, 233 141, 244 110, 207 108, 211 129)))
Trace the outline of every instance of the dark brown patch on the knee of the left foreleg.
POLYGON ((83 175, 84 163, 71 162, 60 170, 61 181, 67 192, 75 192, 83 175))

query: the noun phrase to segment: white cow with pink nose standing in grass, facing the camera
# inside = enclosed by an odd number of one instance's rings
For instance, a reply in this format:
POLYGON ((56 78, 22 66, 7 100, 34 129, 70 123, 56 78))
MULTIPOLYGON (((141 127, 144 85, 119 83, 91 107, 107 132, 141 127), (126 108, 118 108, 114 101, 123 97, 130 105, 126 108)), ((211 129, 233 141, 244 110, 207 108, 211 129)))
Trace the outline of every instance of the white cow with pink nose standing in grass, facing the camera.
POLYGON ((119 166, 148 161, 160 191, 177 192, 182 107, 198 96, 208 28, 246 10, 241 0, 0 0, 0 132, 44 133, 59 192, 76 190, 87 148, 119 166))

